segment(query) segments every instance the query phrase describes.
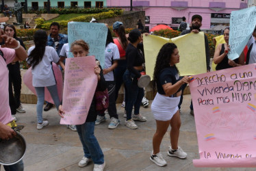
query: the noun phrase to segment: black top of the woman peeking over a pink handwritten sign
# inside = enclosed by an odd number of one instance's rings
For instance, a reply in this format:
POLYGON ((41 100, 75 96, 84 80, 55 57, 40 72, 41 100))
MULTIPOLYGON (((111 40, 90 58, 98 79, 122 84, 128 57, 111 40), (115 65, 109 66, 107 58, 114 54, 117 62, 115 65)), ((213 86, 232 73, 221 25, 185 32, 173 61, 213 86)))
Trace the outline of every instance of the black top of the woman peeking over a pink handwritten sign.
MULTIPOLYGON (((101 68, 101 66, 99 66, 99 68, 101 68)), ((102 68, 101 68, 101 73, 99 75, 101 75, 101 79, 98 81, 97 90, 104 91, 107 88, 107 84, 103 76, 102 68)), ((95 99, 95 92, 94 92, 94 96, 92 98, 92 103, 90 105, 86 122, 95 122, 96 119, 97 119, 97 110, 96 110, 96 99, 95 99)))

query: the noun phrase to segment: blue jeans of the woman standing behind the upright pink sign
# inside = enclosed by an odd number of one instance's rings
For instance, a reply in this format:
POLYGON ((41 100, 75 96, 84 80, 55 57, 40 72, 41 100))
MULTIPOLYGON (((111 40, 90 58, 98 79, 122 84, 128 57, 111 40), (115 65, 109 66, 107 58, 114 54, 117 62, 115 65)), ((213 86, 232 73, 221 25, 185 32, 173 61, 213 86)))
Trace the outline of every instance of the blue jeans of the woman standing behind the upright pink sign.
POLYGON ((84 149, 84 157, 92 159, 94 164, 103 164, 104 155, 102 153, 99 142, 94 136, 95 122, 85 122, 77 124, 77 133, 84 149))

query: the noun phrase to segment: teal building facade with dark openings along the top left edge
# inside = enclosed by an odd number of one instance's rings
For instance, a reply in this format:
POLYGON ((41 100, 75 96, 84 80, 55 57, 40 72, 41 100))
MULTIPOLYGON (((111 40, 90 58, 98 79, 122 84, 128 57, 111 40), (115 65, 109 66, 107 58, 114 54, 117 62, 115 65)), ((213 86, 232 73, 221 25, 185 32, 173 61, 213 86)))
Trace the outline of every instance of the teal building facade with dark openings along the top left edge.
MULTIPOLYGON (((20 1, 23 6, 25 5, 25 0, 18 0, 20 1)), ((14 5, 13 0, 5 0, 5 4, 8 6, 12 7, 14 5)), ((90 8, 90 7, 103 7, 106 6, 106 0, 91 0, 91 1, 81 1, 81 0, 50 0, 50 5, 54 7, 64 7, 64 6, 72 6, 72 7, 85 7, 85 8, 90 8)), ((35 0, 27 0, 27 6, 28 7, 33 7, 33 8, 38 8, 38 7, 46 7, 47 6, 47 0, 40 0, 40 1, 35 1, 35 0)))

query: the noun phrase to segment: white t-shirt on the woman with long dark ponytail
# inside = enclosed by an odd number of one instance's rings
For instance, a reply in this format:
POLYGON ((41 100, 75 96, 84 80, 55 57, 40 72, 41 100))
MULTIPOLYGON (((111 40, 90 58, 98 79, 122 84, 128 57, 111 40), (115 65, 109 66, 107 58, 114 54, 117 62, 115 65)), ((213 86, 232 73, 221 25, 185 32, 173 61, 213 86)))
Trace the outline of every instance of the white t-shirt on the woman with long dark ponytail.
MULTIPOLYGON (((34 48, 35 46, 29 48, 27 51, 28 55, 30 55, 34 48)), ((42 61, 32 69, 32 84, 34 87, 47 87, 56 84, 51 62, 57 63, 59 60, 60 58, 53 47, 45 47, 42 61)))

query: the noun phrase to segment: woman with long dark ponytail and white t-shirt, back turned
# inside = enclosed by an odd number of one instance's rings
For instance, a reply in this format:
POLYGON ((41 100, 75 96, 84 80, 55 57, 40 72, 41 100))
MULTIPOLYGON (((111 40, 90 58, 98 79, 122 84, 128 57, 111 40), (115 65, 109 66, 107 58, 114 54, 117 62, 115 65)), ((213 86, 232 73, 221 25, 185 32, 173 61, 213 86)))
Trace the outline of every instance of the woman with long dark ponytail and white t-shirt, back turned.
POLYGON ((29 57, 27 64, 32 68, 32 84, 36 89, 38 101, 36 104, 36 113, 38 118, 37 129, 42 129, 49 122, 42 118, 42 107, 44 105, 44 88, 47 87, 53 98, 55 107, 58 109, 60 98, 57 94, 57 83, 53 73, 51 62, 59 63, 59 56, 53 47, 47 46, 47 32, 38 30, 34 34, 35 46, 27 51, 29 57))

